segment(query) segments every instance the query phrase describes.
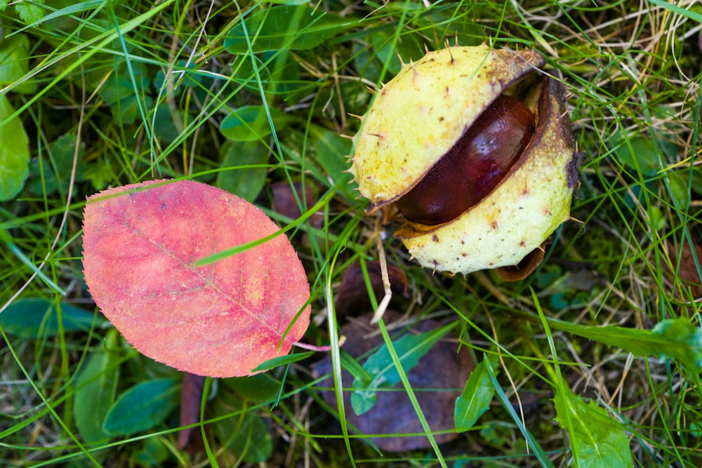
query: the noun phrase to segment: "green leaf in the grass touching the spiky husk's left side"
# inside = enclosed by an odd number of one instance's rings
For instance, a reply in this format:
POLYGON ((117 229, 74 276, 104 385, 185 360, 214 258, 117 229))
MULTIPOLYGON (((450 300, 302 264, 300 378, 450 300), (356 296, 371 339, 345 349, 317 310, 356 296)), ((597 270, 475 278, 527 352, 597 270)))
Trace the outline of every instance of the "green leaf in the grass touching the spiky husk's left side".
POLYGON ((349 200, 355 199, 358 196, 355 190, 357 184, 350 183, 353 176, 347 172, 350 166, 348 159, 351 154, 351 140, 319 126, 312 126, 310 135, 314 140, 319 164, 333 180, 338 192, 349 200))

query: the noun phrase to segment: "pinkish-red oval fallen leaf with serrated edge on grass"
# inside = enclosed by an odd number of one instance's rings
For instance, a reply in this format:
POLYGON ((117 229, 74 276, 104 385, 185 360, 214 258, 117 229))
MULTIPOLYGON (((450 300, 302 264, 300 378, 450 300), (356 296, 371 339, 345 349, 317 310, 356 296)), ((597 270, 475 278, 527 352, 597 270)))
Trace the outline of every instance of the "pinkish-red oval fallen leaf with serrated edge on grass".
POLYGON ((229 192, 163 182, 88 198, 83 267, 102 313, 143 354, 197 375, 251 375, 290 352, 310 323, 309 306, 296 319, 310 286, 288 239, 195 267, 277 227, 229 192))

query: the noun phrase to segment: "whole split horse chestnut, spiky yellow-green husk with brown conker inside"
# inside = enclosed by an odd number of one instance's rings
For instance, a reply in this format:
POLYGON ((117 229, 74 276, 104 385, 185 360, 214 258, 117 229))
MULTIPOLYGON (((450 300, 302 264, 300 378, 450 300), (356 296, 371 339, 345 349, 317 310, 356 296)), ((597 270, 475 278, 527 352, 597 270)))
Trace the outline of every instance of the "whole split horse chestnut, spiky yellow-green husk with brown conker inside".
POLYGON ((376 93, 350 172, 369 213, 401 213, 395 236, 421 265, 515 279, 569 218, 578 156, 564 88, 538 72, 544 63, 535 51, 448 47, 376 93))

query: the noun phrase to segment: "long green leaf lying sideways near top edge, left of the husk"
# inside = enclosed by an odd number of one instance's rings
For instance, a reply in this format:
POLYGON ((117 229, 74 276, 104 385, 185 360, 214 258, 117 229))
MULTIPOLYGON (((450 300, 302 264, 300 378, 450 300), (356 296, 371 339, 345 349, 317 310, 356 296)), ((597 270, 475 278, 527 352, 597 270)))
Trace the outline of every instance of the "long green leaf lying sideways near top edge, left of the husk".
POLYGON ((343 29, 357 25, 357 18, 342 18, 307 5, 273 6, 258 10, 237 25, 224 41, 229 53, 303 50, 322 44, 343 29), (251 41, 246 41, 244 28, 251 41))

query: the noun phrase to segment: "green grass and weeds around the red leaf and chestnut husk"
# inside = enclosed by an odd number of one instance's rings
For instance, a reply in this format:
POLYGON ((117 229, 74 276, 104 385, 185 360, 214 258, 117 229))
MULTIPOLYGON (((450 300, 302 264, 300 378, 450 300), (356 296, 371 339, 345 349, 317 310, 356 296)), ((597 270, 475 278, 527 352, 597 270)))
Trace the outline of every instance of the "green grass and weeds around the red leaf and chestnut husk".
POLYGON ((45 3, 0 1, 0 95, 14 109, 0 124, 18 116, 28 136, 3 135, 0 147, 31 157, 0 206, 0 307, 25 318, 22 330, 0 329, 1 465, 558 467, 575 455, 597 466, 593 446, 608 466, 702 464, 699 4, 328 1, 312 21, 286 11, 269 34, 256 18, 282 6, 45 3), (575 220, 515 283, 421 269, 394 225, 364 214, 343 172, 352 149, 340 135, 355 134, 352 115, 398 57, 483 40, 545 55, 583 152, 575 220), (208 380, 197 453, 178 449, 177 409, 145 410, 148 429, 102 434, 117 396, 181 380, 105 323, 81 273, 86 196, 154 178, 223 187, 289 227, 319 319, 305 342, 316 345, 336 348, 327 323, 343 273, 377 260, 383 236, 409 284, 392 308, 455 322, 485 363, 491 406, 456 441, 381 456, 321 399, 310 364, 322 356, 312 356, 254 380, 208 380), (310 185, 314 199, 298 203, 305 213, 321 201, 321 224, 274 212, 273 182, 310 185))

